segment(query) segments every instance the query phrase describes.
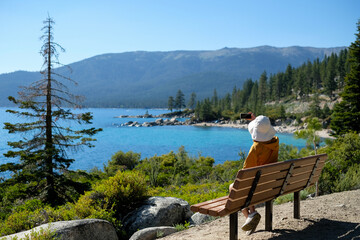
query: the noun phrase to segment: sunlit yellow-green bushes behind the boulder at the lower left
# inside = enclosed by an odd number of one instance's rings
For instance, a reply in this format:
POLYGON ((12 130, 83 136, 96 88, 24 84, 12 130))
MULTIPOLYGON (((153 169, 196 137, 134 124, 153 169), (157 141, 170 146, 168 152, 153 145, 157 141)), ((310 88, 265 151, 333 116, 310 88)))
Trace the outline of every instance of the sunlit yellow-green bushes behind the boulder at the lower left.
POLYGON ((29 200, 0 222, 0 236, 48 222, 98 218, 111 222, 121 237, 124 232, 118 219, 146 198, 144 179, 139 172, 119 171, 114 177, 96 184, 94 190, 86 192, 75 204, 67 203, 58 208, 45 206, 40 200, 29 200))

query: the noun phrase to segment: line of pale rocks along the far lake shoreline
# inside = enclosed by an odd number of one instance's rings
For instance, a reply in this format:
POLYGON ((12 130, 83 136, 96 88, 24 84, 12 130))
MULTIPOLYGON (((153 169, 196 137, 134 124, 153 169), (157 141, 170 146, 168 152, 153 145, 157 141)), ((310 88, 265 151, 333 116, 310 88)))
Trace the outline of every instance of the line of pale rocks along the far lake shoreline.
MULTIPOLYGON (((126 123, 120 124, 119 127, 154 127, 154 126, 179 126, 179 125, 191 125, 197 127, 230 127, 230 128, 239 128, 239 129, 247 129, 248 123, 246 120, 217 120, 213 122, 196 122, 191 120, 192 115, 172 115, 169 118, 168 114, 162 114, 153 116, 151 114, 139 115, 139 116, 128 116, 122 115, 116 118, 152 118, 156 119, 155 121, 149 121, 144 123, 139 123, 137 121, 128 121, 126 123), (185 121, 180 121, 178 119, 185 119, 185 121)), ((278 133, 288 133, 294 134, 298 130, 305 129, 304 125, 299 125, 296 120, 286 119, 282 121, 280 119, 275 121, 274 126, 276 132, 278 133)), ((331 138, 332 131, 330 129, 322 129, 316 132, 317 135, 321 138, 331 138)))

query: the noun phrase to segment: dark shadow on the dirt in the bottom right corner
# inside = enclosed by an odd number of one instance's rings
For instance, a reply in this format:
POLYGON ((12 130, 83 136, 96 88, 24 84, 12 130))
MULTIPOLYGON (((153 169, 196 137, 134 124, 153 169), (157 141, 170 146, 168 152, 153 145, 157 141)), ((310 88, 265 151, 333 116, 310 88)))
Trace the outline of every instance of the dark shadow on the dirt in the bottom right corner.
POLYGON ((329 219, 321 219, 320 221, 314 221, 311 219, 304 220, 309 221, 312 224, 302 231, 295 231, 291 229, 273 230, 272 232, 279 233, 281 235, 269 238, 269 240, 360 240, 360 223, 340 222, 329 219))

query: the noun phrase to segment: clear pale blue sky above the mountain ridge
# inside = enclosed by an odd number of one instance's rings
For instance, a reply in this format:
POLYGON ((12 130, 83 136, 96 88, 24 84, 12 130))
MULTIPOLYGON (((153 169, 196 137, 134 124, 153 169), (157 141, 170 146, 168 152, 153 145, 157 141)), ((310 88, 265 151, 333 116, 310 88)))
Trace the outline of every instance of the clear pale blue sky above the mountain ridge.
POLYGON ((349 46, 359 0, 0 0, 0 73, 38 71, 42 21, 60 61, 103 53, 349 46))

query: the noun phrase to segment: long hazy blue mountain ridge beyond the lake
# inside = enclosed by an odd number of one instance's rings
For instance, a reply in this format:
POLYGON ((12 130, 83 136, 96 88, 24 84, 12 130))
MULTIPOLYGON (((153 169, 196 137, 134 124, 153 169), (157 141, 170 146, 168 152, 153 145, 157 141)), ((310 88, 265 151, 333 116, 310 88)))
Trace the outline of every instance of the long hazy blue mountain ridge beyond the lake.
MULTIPOLYGON (((222 96, 234 86, 242 87, 246 79, 257 80, 264 71, 285 71, 288 64, 298 67, 344 48, 261 46, 216 51, 137 51, 103 54, 72 63, 72 74, 65 67, 56 71, 78 82, 71 92, 85 96, 86 106, 164 107, 168 97, 175 97, 179 89, 186 101, 192 92, 197 99, 211 97, 214 89, 222 96)), ((17 96, 19 86, 40 77, 39 73, 25 71, 1 74, 0 105, 9 105, 9 95, 17 96)))

